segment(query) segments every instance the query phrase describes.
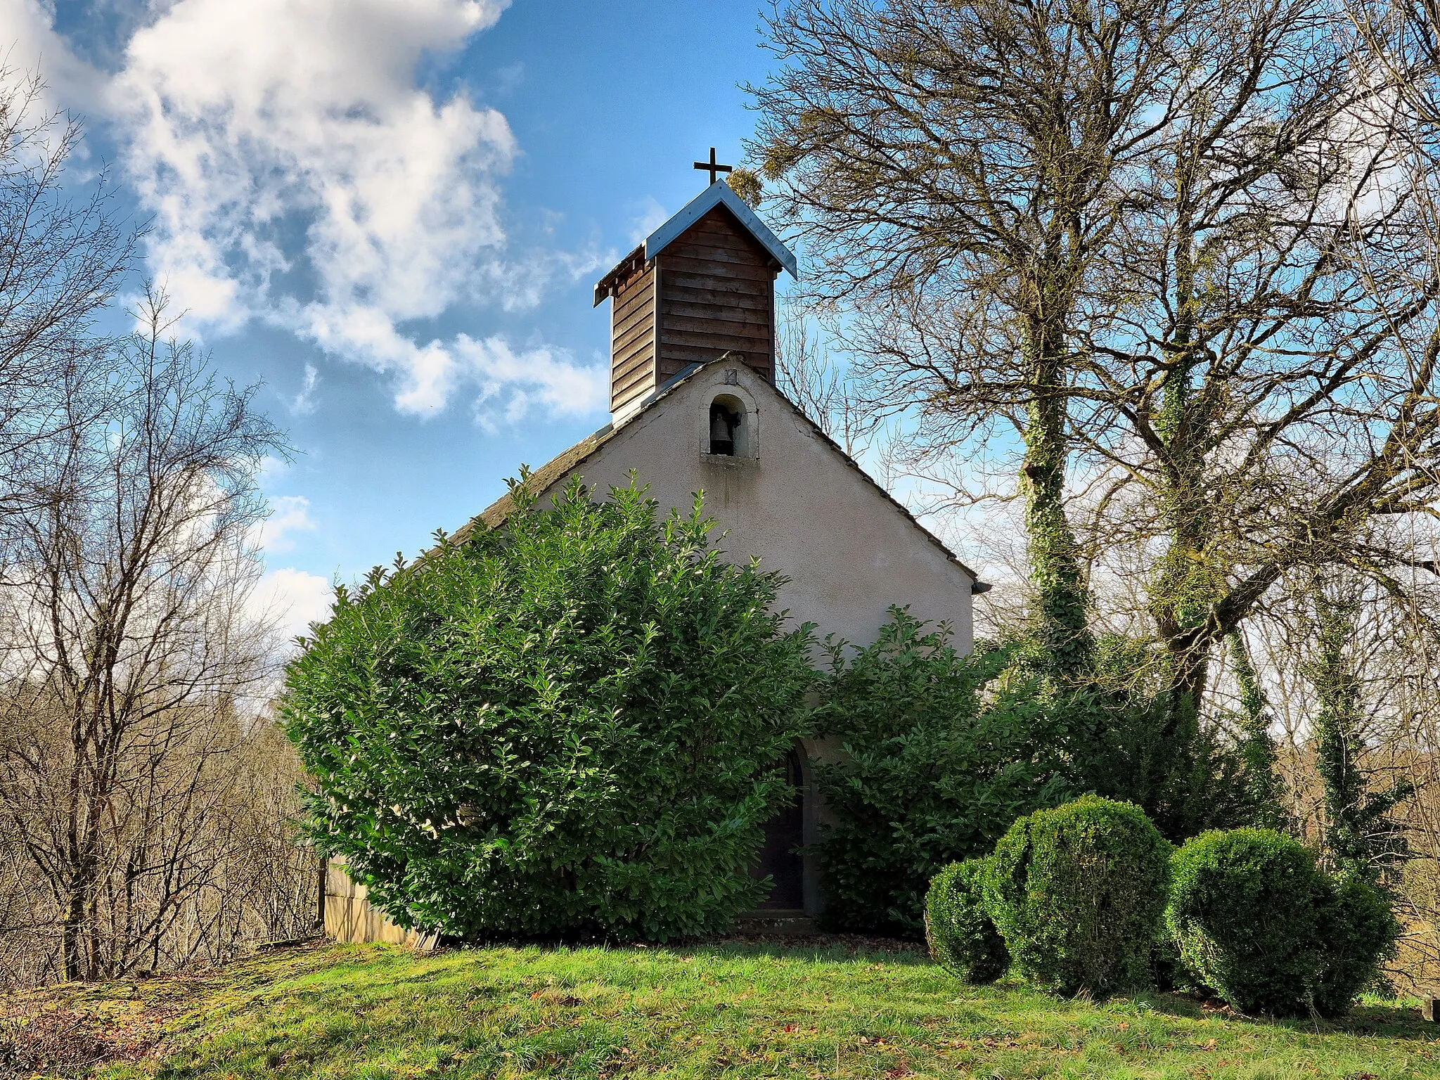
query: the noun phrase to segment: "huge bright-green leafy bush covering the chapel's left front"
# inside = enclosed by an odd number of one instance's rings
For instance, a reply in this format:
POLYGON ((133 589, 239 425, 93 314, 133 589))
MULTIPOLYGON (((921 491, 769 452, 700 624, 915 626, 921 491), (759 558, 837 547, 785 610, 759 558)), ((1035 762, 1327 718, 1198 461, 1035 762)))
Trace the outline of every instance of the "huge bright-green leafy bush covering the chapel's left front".
POLYGON ((467 937, 723 929, 802 733, 809 628, 708 547, 697 500, 573 484, 337 590, 287 671, 323 850, 405 926, 467 937))

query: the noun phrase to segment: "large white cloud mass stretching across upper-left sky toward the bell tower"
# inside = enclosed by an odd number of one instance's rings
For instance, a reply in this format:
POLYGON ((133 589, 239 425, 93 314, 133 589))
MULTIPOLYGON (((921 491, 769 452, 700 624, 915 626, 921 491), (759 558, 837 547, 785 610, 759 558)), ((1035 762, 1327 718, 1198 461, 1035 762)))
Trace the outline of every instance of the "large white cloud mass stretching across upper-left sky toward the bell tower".
MULTIPOLYGON (((112 76, 66 49, 45 0, 0 0, 0 26, 17 62, 43 65, 58 101, 115 122, 127 186, 153 215, 148 269, 192 333, 255 318, 285 327, 389 374, 397 408, 416 413, 462 387, 487 415, 528 403, 583 412, 598 373, 562 351, 478 363, 471 338, 416 330, 465 302, 533 305, 549 279, 595 264, 505 256, 510 125, 462 92, 418 85, 428 59, 507 4, 156 3, 112 76)), ((312 389, 307 373, 294 410, 312 408, 312 389)))

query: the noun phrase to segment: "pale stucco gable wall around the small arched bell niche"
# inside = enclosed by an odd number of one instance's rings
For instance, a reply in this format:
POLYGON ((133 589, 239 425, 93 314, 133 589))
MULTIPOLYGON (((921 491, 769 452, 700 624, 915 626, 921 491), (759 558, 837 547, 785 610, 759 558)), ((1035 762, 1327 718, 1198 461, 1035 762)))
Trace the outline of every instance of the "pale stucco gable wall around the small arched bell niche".
MULTIPOLYGON (((779 596, 795 624, 815 622, 868 644, 891 603, 929 621, 949 621, 953 645, 969 651, 973 579, 744 364, 716 361, 616 433, 575 471, 602 495, 636 469, 661 508, 688 511, 693 492, 729 536, 732 562, 752 554, 791 582, 779 596), (730 384, 726 380, 733 379, 730 384), (732 395, 746 408, 744 458, 708 451, 710 403, 732 395), (746 442, 749 445, 746 445, 746 442)), ((564 478, 541 495, 541 504, 564 478)))

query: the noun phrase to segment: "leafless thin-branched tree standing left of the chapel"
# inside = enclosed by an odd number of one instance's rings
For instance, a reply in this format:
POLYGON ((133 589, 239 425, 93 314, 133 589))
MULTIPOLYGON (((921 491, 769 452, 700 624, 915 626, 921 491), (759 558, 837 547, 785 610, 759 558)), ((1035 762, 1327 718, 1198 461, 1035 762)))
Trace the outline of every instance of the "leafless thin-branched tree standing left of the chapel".
POLYGON ((62 973, 157 958, 215 877, 238 701, 274 675, 246 613, 255 480, 282 446, 249 392, 166 343, 124 343, 99 418, 71 415, 32 469, 0 598, 0 816, 59 912, 62 973))

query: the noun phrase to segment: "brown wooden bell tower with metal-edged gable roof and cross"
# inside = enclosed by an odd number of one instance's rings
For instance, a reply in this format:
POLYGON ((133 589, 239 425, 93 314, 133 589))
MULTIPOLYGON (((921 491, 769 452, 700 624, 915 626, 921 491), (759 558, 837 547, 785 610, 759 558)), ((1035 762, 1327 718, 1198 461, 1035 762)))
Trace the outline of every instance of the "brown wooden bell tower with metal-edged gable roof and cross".
MULTIPOLYGON (((711 151, 714 158, 714 151, 711 151)), ((713 170, 723 171, 724 166, 713 170)), ((711 173, 713 176, 714 173, 711 173)), ((611 308, 611 413, 724 353, 775 379, 775 278, 795 255, 716 180, 595 285, 611 308)))

